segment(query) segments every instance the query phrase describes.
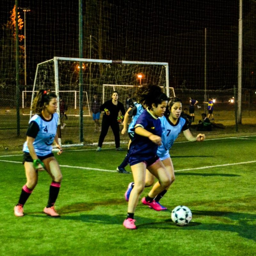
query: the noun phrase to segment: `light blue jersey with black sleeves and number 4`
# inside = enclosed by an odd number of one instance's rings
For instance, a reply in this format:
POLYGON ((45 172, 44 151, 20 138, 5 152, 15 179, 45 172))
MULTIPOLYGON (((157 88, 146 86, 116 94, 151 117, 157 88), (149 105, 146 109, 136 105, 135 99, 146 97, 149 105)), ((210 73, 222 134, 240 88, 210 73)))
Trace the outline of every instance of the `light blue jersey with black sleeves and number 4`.
MULTIPOLYGON (((57 132, 58 119, 58 114, 54 113, 51 120, 45 120, 43 116, 39 115, 34 115, 29 120, 27 135, 35 138, 33 146, 37 156, 46 156, 52 153, 52 143, 57 132), (30 129, 30 127, 32 127, 32 123, 34 128, 30 129), (37 130, 37 133, 35 130, 37 130)), ((23 145, 23 152, 29 153, 27 141, 23 145)))

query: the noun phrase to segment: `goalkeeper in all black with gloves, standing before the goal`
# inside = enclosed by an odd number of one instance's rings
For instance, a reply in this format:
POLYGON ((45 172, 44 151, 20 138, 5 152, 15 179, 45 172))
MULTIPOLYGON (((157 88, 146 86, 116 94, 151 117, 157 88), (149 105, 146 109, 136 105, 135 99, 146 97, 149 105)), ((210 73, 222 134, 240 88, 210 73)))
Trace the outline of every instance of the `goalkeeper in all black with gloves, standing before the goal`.
POLYGON ((100 106, 100 111, 104 111, 103 117, 102 117, 102 124, 101 124, 101 132, 100 132, 100 138, 98 143, 98 148, 96 151, 101 151, 101 147, 103 144, 103 141, 108 133, 109 126, 111 127, 114 136, 115 136, 115 143, 116 143, 116 150, 121 151, 122 148, 120 148, 120 128, 119 123, 122 123, 124 119, 125 109, 124 105, 118 101, 118 92, 113 92, 111 96, 111 100, 107 100, 105 103, 103 103, 100 106), (121 111, 122 115, 119 116, 119 112, 121 111))

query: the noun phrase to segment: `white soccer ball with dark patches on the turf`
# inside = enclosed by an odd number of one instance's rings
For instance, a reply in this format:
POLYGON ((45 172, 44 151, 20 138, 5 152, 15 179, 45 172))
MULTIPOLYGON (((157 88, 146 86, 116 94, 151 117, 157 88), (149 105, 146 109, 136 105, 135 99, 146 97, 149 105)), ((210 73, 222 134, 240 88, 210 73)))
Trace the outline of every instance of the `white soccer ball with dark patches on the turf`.
POLYGON ((185 226, 192 220, 192 212, 187 206, 179 205, 172 210, 171 217, 178 226, 185 226))

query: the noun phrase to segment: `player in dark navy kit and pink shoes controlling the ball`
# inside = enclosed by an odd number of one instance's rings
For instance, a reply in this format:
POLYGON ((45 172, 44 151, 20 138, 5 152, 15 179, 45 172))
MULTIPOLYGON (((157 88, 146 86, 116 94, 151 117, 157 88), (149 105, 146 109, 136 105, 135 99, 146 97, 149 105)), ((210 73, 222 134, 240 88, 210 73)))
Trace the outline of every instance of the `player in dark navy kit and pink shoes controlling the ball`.
POLYGON ((164 115, 168 98, 157 85, 145 85, 139 89, 138 94, 144 98, 148 108, 142 112, 135 123, 134 140, 129 151, 134 187, 128 202, 127 218, 123 223, 124 227, 129 229, 137 228, 134 224, 134 212, 145 187, 146 169, 157 177, 160 186, 153 187, 148 196, 142 198, 144 204, 152 208, 157 207, 154 197, 171 184, 169 173, 156 155, 157 147, 161 145, 162 135, 161 122, 158 117, 164 115))

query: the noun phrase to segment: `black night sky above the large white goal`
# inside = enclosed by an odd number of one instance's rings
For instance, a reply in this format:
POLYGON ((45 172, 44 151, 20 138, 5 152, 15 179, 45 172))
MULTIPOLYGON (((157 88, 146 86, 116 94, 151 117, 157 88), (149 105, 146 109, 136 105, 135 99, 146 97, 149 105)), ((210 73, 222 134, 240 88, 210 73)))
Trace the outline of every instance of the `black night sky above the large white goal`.
MULTIPOLYGON (((244 3, 248 1, 244 0, 244 3)), ((207 28, 209 79, 214 79, 215 84, 233 86, 236 79, 238 0, 106 2, 108 8, 103 9, 103 15, 107 17, 110 28, 106 32, 109 49, 105 51, 105 59, 169 62, 170 74, 180 76, 178 81, 173 81, 176 86, 182 80, 190 80, 191 85, 198 81, 202 84, 204 28, 207 28), (231 77, 234 77, 233 81, 229 81, 231 77)), ((1 24, 8 20, 15 1, 4 3, 0 10, 1 24)), ((78 0, 20 0, 19 5, 31 9, 26 17, 31 81, 38 62, 53 56, 78 57, 78 0)), ((86 8, 84 1, 83 14, 86 8)), ((244 16, 249 11, 250 5, 244 4, 244 16)), ((21 17, 24 17, 23 13, 21 17)))

